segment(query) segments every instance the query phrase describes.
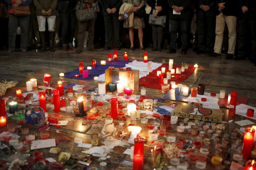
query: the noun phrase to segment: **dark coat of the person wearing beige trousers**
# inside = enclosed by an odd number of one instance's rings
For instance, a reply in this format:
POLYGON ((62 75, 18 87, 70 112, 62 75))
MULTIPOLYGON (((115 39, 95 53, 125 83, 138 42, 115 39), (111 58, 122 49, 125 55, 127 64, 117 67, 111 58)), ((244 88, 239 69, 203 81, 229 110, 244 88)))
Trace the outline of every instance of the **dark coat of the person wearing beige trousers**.
MULTIPOLYGON (((239 11, 239 5, 238 5, 238 0, 222 0, 224 2, 225 8, 222 10, 223 15, 228 15, 228 16, 237 16, 238 11, 239 11)), ((216 15, 220 14, 220 11, 218 10, 218 4, 221 3, 221 0, 216 0, 215 1, 217 8, 216 8, 216 15)))

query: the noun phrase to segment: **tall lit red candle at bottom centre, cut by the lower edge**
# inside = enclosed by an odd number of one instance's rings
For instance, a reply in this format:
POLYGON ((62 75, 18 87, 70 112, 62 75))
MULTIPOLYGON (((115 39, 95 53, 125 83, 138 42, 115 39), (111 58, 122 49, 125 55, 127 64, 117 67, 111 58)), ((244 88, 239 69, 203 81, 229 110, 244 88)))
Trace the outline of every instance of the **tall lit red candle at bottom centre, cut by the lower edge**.
POLYGON ((142 170, 143 169, 144 143, 145 143, 144 138, 136 137, 134 139, 132 170, 142 170))

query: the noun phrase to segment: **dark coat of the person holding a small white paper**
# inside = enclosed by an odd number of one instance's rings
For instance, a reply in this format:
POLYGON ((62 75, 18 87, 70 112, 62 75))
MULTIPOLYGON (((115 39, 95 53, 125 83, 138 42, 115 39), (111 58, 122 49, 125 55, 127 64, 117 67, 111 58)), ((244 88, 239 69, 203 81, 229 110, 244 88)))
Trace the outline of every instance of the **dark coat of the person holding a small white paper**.
POLYGON ((192 0, 168 0, 170 10, 170 19, 189 19, 189 15, 191 12, 192 0), (180 11, 180 15, 173 14, 172 6, 182 6, 184 9, 180 11))

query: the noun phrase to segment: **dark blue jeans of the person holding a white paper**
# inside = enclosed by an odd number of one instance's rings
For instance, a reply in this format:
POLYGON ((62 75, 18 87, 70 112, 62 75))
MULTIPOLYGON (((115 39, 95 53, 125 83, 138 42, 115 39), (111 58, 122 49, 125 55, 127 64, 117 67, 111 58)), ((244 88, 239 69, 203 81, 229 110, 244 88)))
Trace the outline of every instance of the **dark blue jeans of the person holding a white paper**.
POLYGON ((176 49, 177 31, 180 24, 181 32, 181 49, 187 50, 188 46, 188 20, 171 19, 171 42, 170 45, 173 49, 176 49))

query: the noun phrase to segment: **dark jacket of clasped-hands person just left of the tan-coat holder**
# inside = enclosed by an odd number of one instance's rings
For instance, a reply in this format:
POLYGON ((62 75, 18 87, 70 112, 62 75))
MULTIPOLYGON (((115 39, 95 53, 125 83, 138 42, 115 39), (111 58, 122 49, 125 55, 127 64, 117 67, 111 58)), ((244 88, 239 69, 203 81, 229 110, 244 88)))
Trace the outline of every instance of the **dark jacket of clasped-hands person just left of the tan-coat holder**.
POLYGON ((103 16, 109 16, 109 15, 115 15, 119 16, 119 9, 121 5, 123 4, 122 0, 101 0, 100 1, 103 9, 102 9, 102 15, 103 16), (108 14, 107 9, 110 8, 116 8, 116 12, 114 14, 108 14))

